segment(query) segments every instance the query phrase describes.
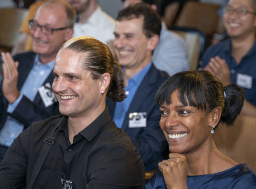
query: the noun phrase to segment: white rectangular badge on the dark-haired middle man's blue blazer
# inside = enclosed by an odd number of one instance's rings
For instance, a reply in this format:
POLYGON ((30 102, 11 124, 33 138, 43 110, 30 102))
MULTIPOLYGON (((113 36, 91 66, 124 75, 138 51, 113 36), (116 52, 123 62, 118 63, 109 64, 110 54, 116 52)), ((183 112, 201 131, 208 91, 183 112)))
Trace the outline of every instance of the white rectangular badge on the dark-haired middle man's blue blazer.
POLYGON ((132 112, 129 114, 129 128, 146 127, 147 112, 132 112))

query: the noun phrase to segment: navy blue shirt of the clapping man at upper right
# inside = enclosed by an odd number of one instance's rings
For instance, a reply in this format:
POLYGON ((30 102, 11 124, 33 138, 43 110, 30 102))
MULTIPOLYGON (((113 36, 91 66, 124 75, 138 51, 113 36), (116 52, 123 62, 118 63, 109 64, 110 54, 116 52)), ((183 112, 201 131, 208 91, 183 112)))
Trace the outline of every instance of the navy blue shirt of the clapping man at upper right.
POLYGON ((252 77, 252 88, 246 88, 240 84, 238 85, 240 85, 245 91, 245 99, 256 105, 256 42, 254 42, 254 45, 247 55, 242 58, 240 64, 236 64, 234 57, 232 57, 230 39, 210 46, 202 57, 202 68, 208 64, 211 57, 215 57, 216 55, 222 59, 225 59, 227 62, 227 65, 230 68, 230 79, 232 83, 238 84, 238 73, 252 77))

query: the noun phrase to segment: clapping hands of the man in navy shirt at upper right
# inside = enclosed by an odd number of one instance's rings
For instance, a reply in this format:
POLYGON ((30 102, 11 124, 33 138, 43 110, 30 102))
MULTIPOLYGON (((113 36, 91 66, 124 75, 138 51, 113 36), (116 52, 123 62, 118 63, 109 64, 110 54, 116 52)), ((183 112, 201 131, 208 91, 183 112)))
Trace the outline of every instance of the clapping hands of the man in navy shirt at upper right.
POLYGON ((225 59, 221 59, 219 56, 212 57, 210 62, 205 66, 204 70, 211 72, 226 86, 230 84, 230 69, 227 66, 225 59))

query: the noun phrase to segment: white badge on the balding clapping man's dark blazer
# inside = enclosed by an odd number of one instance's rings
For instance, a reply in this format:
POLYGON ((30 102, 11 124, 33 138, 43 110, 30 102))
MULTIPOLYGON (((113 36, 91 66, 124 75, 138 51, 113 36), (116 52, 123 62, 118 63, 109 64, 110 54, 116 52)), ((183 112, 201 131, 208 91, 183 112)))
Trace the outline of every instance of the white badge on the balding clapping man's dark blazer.
POLYGON ((53 91, 51 90, 50 83, 46 83, 45 85, 42 85, 40 88, 38 88, 38 92, 46 108, 52 105, 53 103, 57 102, 57 99, 53 91))

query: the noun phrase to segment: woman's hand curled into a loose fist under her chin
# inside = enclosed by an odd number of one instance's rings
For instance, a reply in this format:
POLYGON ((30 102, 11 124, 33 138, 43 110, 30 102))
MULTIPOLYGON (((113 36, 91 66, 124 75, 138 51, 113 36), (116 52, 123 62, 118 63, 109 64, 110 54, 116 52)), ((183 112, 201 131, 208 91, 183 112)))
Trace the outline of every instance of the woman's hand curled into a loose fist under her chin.
POLYGON ((158 163, 168 189, 187 189, 187 158, 183 154, 170 153, 170 159, 158 163))

